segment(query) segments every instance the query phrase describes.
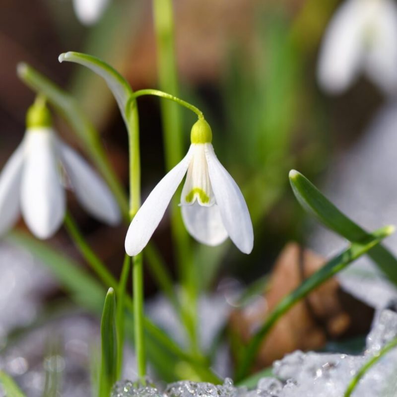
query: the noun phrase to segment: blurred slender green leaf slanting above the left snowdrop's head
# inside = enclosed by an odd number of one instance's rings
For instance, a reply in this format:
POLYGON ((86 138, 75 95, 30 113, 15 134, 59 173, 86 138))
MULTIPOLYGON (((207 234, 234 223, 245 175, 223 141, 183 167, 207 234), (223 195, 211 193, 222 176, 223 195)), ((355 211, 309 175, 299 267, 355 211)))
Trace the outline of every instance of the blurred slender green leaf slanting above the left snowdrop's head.
POLYGON ((124 188, 106 156, 99 133, 85 117, 79 104, 71 95, 33 67, 21 63, 17 67, 17 73, 26 85, 34 91, 44 94, 48 101, 65 118, 81 141, 84 150, 108 183, 125 219, 129 219, 128 199, 124 188))

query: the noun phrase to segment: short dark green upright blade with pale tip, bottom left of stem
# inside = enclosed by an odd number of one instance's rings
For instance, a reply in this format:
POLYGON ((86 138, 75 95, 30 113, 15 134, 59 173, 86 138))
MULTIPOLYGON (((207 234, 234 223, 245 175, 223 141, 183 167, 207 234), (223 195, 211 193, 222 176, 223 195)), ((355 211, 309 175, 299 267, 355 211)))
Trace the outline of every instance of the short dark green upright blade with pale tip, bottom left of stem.
POLYGON ((101 373, 99 375, 99 397, 109 397, 117 381, 117 332, 116 295, 113 288, 106 294, 101 319, 101 373))

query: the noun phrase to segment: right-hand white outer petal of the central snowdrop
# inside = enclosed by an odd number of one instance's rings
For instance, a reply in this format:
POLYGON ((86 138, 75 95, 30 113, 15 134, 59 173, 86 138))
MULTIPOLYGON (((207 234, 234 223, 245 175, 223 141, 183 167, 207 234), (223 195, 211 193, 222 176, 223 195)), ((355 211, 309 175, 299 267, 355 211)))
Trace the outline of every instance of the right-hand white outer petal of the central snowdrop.
POLYGON ((249 254, 254 245, 254 232, 245 199, 234 179, 217 159, 210 143, 205 144, 205 154, 223 225, 236 247, 249 254))

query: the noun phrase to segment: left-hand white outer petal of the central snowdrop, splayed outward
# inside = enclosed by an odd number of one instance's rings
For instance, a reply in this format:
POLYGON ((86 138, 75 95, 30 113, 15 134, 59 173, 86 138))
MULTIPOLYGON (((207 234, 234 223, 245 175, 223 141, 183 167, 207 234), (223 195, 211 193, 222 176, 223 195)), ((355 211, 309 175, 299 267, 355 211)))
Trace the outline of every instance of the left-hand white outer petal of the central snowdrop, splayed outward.
POLYGON ((132 219, 127 232, 125 248, 130 256, 139 254, 160 223, 165 210, 185 176, 194 148, 155 186, 132 219))

